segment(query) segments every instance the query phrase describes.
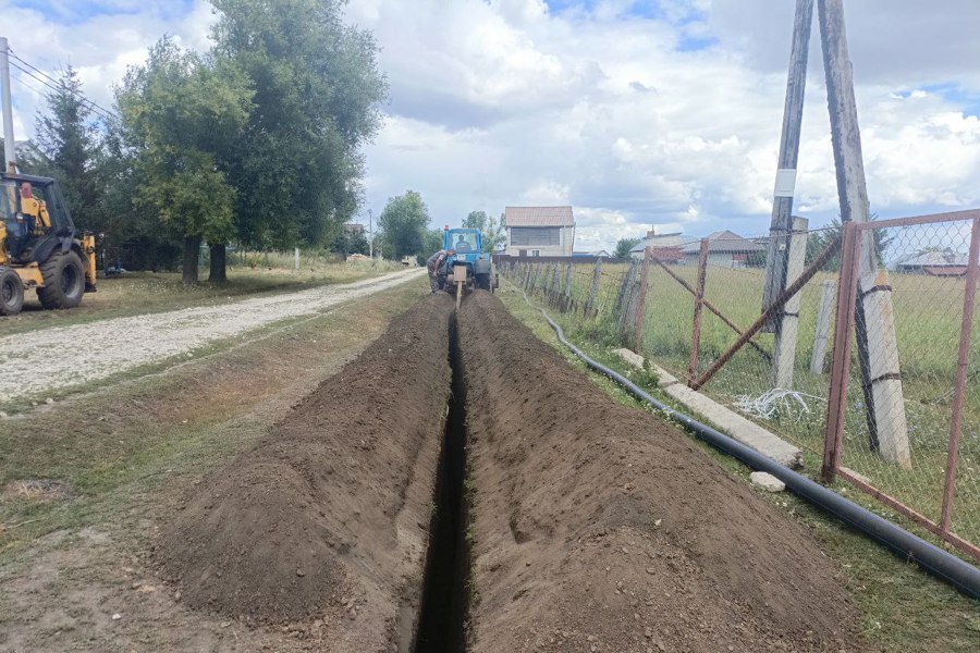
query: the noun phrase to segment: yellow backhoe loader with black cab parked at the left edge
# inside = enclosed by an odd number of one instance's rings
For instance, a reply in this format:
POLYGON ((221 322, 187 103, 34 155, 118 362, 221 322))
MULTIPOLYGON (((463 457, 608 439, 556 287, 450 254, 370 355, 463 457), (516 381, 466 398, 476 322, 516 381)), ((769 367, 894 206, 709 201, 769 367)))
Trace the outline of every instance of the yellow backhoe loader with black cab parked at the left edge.
POLYGON ((95 236, 75 230, 58 184, 0 173, 0 316, 34 289, 45 308, 73 308, 96 289, 95 236))

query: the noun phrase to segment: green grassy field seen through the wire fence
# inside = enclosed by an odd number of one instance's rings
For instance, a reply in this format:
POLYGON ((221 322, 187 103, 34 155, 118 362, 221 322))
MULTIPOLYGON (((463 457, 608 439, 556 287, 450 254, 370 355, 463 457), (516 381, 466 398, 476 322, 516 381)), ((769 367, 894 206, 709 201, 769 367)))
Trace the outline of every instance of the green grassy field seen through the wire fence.
MULTIPOLYGON (((603 264, 601 282, 593 300, 593 315, 586 319, 592 283, 590 264, 574 266, 571 308, 560 320, 569 335, 609 347, 629 346, 633 321, 616 310, 617 293, 626 274, 626 264, 603 264)), ((691 286, 694 267, 672 267, 672 271, 691 286)), ((760 313, 763 270, 709 268, 705 296, 730 320, 747 328, 760 313)), ((836 273, 821 272, 801 292, 799 337, 796 349, 794 387, 803 403, 794 398, 773 406, 768 418, 751 415, 764 427, 814 454, 819 461, 829 394, 829 374, 810 372, 810 355, 822 293, 821 282, 836 281, 836 273)), ((561 287, 564 270, 559 273, 561 287)), ((553 274, 538 274, 535 294, 546 297, 553 274)), ((842 465, 867 478, 932 520, 938 521, 943 495, 947 445, 952 420, 953 382, 956 370, 959 330, 963 319, 965 280, 920 274, 891 274, 893 310, 898 341, 899 364, 912 468, 905 470, 884 461, 869 446, 860 375, 852 361, 848 384, 845 445, 842 465)), ((560 303, 553 301, 558 308, 560 303)), ((558 312, 554 310, 552 312, 558 312)), ((688 378, 694 323, 694 297, 653 267, 648 278, 644 316, 642 354, 678 379, 688 378)), ((963 436, 957 468, 957 491, 953 506, 952 530, 980 544, 980 312, 973 317, 970 375, 965 394, 963 436)), ((703 310, 698 371, 708 367, 735 342, 736 334, 720 319, 703 310)), ((760 333, 755 341, 772 352, 773 336, 760 333)), ((829 334, 825 371, 829 372, 833 330, 829 334)), ((770 390, 771 364, 751 347, 744 347, 702 389, 726 405, 760 397, 770 390)), ((809 469, 811 473, 819 470, 809 469)))

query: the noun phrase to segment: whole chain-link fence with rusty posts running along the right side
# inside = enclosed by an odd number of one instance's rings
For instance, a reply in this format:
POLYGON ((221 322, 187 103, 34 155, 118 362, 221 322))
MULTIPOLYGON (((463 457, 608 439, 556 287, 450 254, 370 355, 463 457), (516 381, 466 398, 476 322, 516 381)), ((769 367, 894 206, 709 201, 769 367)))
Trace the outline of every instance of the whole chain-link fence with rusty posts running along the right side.
POLYGON ((501 270, 573 336, 629 347, 980 558, 978 214, 797 219, 782 236, 501 270))

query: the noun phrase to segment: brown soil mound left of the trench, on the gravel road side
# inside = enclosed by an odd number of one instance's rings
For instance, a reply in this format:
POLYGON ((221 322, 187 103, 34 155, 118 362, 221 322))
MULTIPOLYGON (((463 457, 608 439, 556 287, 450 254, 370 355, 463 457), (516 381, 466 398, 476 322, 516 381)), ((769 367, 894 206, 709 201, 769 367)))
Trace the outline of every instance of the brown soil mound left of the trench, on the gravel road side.
POLYGON ((254 623, 342 619, 333 651, 384 650, 413 628, 452 307, 433 296, 396 318, 203 481, 155 551, 182 600, 254 623))

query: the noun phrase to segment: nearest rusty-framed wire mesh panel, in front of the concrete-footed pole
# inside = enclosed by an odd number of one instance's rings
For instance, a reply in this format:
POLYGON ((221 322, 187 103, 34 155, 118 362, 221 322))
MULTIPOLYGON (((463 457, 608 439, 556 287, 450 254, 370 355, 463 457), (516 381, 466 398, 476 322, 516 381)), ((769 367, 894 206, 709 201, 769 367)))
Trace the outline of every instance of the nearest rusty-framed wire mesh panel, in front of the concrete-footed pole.
POLYGON ((843 476, 980 543, 980 316, 968 274, 975 222, 895 222, 865 231, 879 269, 858 280, 843 476))

